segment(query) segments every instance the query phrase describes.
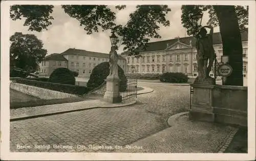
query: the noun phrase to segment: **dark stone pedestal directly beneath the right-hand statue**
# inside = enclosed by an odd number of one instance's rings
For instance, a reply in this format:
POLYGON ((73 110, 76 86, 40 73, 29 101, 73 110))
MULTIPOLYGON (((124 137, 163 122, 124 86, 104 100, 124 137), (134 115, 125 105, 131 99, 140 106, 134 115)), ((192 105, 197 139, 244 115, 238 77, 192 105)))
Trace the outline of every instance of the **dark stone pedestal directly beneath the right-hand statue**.
POLYGON ((189 109, 189 119, 214 122, 214 85, 191 84, 190 86, 193 87, 194 93, 193 100, 191 102, 191 109, 189 109))

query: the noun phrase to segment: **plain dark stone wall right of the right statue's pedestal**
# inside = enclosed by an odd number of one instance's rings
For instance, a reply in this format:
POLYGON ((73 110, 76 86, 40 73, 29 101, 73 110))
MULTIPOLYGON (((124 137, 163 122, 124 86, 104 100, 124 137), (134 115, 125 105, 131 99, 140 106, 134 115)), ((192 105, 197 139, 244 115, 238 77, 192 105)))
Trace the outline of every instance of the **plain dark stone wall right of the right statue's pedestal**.
POLYGON ((213 90, 215 121, 247 126, 247 87, 216 85, 213 90))

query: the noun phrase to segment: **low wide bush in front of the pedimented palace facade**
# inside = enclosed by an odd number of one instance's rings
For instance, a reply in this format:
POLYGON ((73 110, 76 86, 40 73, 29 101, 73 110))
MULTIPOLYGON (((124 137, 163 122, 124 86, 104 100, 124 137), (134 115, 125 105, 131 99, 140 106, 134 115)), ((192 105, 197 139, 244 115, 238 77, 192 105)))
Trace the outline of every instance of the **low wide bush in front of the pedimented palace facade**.
POLYGON ((161 82, 187 83, 188 77, 183 73, 164 73, 160 76, 161 82))

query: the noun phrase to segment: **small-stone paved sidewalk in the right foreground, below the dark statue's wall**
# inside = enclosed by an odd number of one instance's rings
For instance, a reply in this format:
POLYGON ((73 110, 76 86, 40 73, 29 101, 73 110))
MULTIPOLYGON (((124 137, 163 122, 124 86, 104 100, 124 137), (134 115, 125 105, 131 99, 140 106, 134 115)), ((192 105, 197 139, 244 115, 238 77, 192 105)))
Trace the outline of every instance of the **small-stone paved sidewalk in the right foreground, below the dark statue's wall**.
POLYGON ((156 134, 123 146, 127 153, 223 153, 237 128, 188 120, 188 112, 168 119, 171 126, 156 134))

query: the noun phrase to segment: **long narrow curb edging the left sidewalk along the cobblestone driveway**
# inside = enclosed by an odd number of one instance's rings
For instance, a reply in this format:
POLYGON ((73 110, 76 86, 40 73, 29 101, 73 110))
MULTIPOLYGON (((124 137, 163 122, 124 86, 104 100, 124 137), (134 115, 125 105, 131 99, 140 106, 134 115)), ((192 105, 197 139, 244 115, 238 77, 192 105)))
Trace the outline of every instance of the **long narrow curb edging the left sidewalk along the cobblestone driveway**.
MULTIPOLYGON (((88 108, 80 108, 80 109, 73 109, 73 110, 67 110, 67 111, 59 111, 59 112, 53 112, 53 113, 45 113, 45 114, 37 114, 34 116, 28 116, 28 117, 22 117, 22 118, 13 118, 10 119, 10 122, 12 121, 19 121, 19 120, 27 120, 27 119, 33 119, 33 118, 40 118, 40 117, 46 117, 46 116, 51 116, 54 114, 62 114, 62 113, 68 113, 68 112, 76 112, 76 111, 82 111, 82 110, 87 110, 87 109, 93 109, 93 108, 115 108, 115 107, 124 107, 124 106, 130 106, 137 103, 137 101, 129 102, 129 103, 122 103, 119 105, 115 106, 110 106, 110 105, 101 105, 101 106, 95 106, 95 107, 88 107, 88 108)), ((26 108, 26 107, 25 107, 26 108)))

